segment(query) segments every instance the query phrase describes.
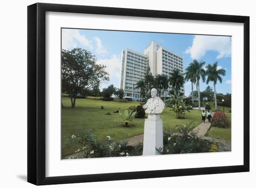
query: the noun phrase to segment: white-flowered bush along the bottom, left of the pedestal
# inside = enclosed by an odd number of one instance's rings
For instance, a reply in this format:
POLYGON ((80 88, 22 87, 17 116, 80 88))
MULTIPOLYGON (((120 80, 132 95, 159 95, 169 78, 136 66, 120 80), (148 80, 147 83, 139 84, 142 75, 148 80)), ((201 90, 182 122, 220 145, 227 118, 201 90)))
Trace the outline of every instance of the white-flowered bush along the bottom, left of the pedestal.
POLYGON ((99 141, 96 135, 92 134, 89 129, 85 134, 78 133, 72 135, 73 142, 79 142, 81 148, 75 153, 79 153, 74 158, 98 158, 98 157, 121 157, 121 156, 137 156, 142 154, 142 144, 137 146, 128 146, 127 141, 115 141, 114 138, 106 136, 105 141, 99 141))

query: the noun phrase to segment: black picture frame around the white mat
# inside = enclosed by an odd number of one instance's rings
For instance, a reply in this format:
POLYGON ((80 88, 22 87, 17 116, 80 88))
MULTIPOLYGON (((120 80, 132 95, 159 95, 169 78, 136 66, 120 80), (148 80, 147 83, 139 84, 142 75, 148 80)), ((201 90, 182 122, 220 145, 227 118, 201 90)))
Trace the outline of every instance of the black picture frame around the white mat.
POLYGON ((249 172, 249 17, 36 3, 27 7, 27 181, 35 185, 249 172), (46 12, 243 23, 243 165, 46 177, 46 12))

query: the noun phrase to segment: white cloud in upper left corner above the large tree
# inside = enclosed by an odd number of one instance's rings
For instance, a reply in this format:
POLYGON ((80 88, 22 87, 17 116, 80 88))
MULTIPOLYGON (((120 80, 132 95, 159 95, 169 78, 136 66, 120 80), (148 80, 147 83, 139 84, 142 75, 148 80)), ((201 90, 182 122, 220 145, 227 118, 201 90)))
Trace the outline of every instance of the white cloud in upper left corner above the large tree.
POLYGON ((78 44, 93 49, 92 41, 88 40, 85 35, 80 34, 77 29, 63 29, 62 30, 62 49, 73 49, 78 44))

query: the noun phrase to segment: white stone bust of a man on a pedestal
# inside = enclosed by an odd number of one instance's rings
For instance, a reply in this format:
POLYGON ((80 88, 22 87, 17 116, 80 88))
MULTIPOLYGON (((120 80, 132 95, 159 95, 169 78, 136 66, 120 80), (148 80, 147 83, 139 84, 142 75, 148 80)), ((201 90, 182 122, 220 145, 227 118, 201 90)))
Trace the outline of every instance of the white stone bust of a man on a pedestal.
POLYGON ((147 103, 143 106, 147 114, 160 114, 164 108, 164 102, 157 97, 157 90, 155 88, 151 89, 151 97, 148 99, 147 103))

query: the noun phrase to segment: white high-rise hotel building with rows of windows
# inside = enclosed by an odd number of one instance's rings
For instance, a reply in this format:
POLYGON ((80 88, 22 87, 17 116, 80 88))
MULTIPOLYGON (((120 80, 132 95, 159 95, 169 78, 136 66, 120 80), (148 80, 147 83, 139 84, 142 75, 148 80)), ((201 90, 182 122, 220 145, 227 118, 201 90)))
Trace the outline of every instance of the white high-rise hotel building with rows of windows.
MULTIPOLYGON (((183 73, 182 56, 171 52, 155 41, 146 47, 144 54, 126 49, 122 51, 121 56, 120 88, 124 90, 124 97, 131 98, 133 101, 141 100, 136 84, 144 79, 148 66, 153 76, 163 74, 170 77, 174 69, 179 69, 183 73)), ((170 89, 169 87, 168 90, 170 89)), ((184 87, 181 88, 181 92, 184 93, 184 87)), ((168 96, 168 91, 166 91, 166 96, 168 96)))

